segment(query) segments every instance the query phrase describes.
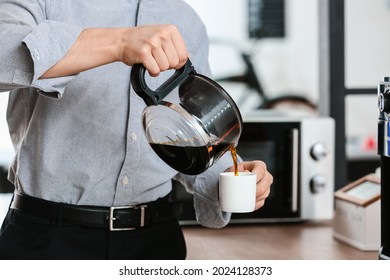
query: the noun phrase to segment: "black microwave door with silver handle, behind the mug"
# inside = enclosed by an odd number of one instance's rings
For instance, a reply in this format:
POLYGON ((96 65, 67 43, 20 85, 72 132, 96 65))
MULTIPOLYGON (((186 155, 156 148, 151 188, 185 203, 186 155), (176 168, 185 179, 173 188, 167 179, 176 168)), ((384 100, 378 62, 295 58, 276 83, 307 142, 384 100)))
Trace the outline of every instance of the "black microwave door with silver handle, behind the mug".
POLYGON ((237 146, 247 161, 260 159, 274 176, 271 193, 260 211, 241 218, 298 219, 300 214, 299 123, 244 123, 237 146))

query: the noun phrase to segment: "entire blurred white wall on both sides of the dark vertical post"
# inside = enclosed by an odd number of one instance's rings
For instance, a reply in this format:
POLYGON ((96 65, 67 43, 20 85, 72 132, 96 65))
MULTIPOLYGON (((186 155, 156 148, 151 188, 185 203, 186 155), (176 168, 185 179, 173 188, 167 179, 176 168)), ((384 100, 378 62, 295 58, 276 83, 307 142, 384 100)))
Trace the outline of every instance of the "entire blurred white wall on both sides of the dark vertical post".
MULTIPOLYGON (((292 92, 318 101, 320 1, 286 0, 286 38, 262 39, 254 46, 255 66, 269 96, 292 92)), ((246 0, 187 2, 204 20, 211 39, 230 40, 244 49, 251 47, 246 30, 246 0)), ((376 88, 384 76, 390 76, 388 34, 390 0, 345 0, 347 88, 376 88)), ((222 52, 220 46, 213 44, 210 61, 216 77, 240 73, 243 69, 236 53, 222 52)), ((243 91, 242 87, 225 88, 233 97, 237 96, 237 91, 243 91)), ((367 138, 376 139, 376 99, 376 95, 346 98, 346 135, 353 146, 347 149, 348 153, 376 154, 375 150, 359 151, 367 138)))

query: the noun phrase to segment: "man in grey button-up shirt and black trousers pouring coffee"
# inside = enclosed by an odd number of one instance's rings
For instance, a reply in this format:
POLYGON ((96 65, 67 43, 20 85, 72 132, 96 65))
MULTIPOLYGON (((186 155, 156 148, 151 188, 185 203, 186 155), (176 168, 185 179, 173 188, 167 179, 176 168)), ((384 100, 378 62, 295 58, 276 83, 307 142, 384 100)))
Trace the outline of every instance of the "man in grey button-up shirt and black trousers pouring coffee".
MULTIPOLYGON (((16 151, 0 258, 185 258, 167 202, 172 180, 193 193, 200 224, 229 222, 217 186, 230 154, 197 176, 170 168, 145 139, 145 103, 130 86, 136 63, 151 88, 188 57, 210 76, 205 27, 185 2, 0 0, 0 38, 16 151), (131 207, 113 208, 122 206, 131 207)), ((257 173, 261 208, 272 176, 261 161, 239 169, 257 173)))

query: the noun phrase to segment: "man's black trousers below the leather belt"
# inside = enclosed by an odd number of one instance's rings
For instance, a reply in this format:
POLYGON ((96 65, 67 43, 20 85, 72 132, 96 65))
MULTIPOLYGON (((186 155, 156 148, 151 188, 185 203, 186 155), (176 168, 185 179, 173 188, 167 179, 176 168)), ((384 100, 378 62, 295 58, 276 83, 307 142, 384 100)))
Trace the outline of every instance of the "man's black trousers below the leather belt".
POLYGON ((0 259, 102 260, 185 259, 180 225, 172 219, 132 231, 51 225, 10 209, 0 230, 0 259))

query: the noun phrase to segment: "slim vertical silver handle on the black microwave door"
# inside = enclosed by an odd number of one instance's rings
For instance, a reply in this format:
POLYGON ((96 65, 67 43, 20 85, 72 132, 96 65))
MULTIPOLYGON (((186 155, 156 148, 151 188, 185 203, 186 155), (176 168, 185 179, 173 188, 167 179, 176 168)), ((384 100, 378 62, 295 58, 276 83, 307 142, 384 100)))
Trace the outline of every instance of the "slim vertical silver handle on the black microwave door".
POLYGON ((291 164, 292 164, 292 180, 291 180, 291 211, 297 212, 298 211, 298 160, 299 160, 299 131, 297 128, 292 129, 292 157, 291 157, 291 164))

